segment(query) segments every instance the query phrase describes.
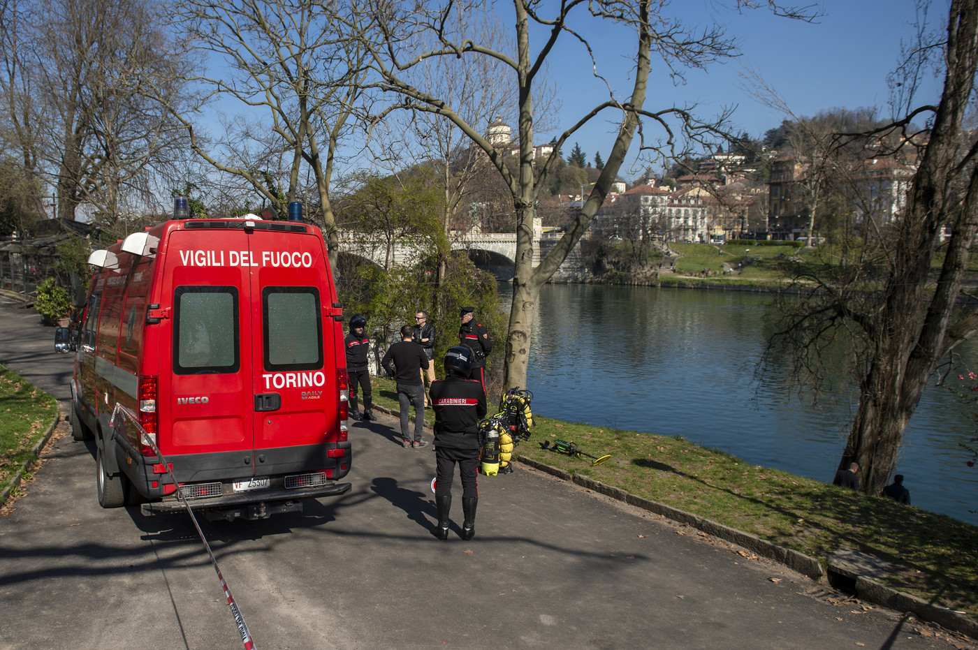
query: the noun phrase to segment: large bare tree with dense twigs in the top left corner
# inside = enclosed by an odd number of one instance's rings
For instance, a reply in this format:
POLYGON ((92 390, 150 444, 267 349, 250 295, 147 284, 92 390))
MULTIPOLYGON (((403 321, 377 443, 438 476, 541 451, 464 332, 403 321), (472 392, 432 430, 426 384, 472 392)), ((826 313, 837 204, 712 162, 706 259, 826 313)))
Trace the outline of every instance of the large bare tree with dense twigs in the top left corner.
POLYGON ((24 168, 54 188, 57 215, 86 204, 111 223, 154 201, 152 179, 181 149, 140 89, 180 101, 185 65, 148 0, 20 0, 3 6, 7 98, 24 168), (123 207, 124 206, 124 207, 123 207))

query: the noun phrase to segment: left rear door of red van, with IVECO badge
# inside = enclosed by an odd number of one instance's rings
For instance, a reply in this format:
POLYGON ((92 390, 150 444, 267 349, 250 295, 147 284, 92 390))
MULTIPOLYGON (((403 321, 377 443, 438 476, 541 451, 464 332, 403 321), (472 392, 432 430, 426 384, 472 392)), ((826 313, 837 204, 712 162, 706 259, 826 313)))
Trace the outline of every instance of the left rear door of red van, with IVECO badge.
POLYGON ((162 302, 172 306, 172 331, 160 332, 159 446, 184 456, 173 462, 181 482, 254 472, 248 236, 213 225, 188 222, 166 245, 162 302))

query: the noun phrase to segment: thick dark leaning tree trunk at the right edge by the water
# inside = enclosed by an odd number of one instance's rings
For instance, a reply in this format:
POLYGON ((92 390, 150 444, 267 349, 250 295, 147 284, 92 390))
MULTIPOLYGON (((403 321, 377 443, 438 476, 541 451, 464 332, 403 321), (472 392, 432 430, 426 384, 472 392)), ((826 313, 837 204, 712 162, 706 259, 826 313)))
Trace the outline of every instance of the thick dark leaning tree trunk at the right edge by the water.
POLYGON ((944 92, 901 219, 884 304, 870 331, 875 354, 860 385, 859 410, 839 463, 840 469, 860 463, 863 490, 870 495, 879 494, 895 469, 904 429, 938 361, 975 332, 973 316, 955 325, 949 322, 978 222, 974 169, 963 205, 952 187, 960 174, 956 152, 961 119, 978 62, 978 0, 954 0, 948 38, 944 92), (949 210, 956 206, 955 216, 949 210), (949 221, 954 222, 954 235, 938 286, 928 297, 934 248, 949 221))

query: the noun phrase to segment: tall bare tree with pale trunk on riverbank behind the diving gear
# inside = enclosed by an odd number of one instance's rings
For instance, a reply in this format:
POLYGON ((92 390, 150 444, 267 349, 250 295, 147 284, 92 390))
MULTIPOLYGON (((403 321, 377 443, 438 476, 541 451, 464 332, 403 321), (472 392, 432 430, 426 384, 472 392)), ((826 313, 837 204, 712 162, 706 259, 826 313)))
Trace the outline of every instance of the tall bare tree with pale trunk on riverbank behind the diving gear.
MULTIPOLYGON (((749 6, 753 2, 738 2, 749 6)), ((765 3, 771 4, 773 3, 765 3)), ((722 31, 707 28, 692 33, 666 15, 666 3, 639 0, 636 3, 618 0, 584 2, 572 0, 554 8, 554 15, 545 17, 541 6, 526 0, 513 0, 511 22, 514 25, 513 48, 501 50, 492 44, 480 42, 463 29, 458 29, 455 17, 459 13, 472 14, 495 11, 499 6, 486 6, 475 2, 445 3, 405 2, 398 0, 372 0, 362 8, 362 22, 347 25, 351 34, 370 53, 373 72, 378 77, 377 87, 396 93, 402 100, 394 108, 410 108, 439 115, 454 123, 471 143, 488 156, 510 190, 516 214, 516 263, 513 278, 510 322, 506 343, 505 386, 525 385, 526 367, 529 360, 530 333, 533 328, 533 307, 539 298, 541 286, 555 273, 570 250, 584 235, 594 218, 611 184, 615 180, 622 161, 635 137, 640 121, 647 120, 663 129, 660 147, 675 152, 691 142, 702 140, 718 131, 717 123, 696 120, 685 108, 665 108, 649 111, 644 108, 650 57, 655 54, 664 66, 674 74, 683 69, 703 67, 718 58, 733 53, 733 42, 722 31), (627 27, 633 37, 633 56, 636 62, 634 85, 628 97, 615 98, 609 88, 608 97, 584 112, 580 119, 566 128, 554 142, 555 150, 547 160, 534 163, 534 105, 537 83, 548 57, 561 37, 575 40, 594 57, 584 30, 590 21, 615 22, 627 27), (368 31, 368 29, 373 31, 368 31), (542 29, 542 45, 531 49, 531 32, 542 29), (419 34, 433 35, 438 47, 416 47, 425 39, 419 34), (356 36, 359 35, 359 36, 356 36), (513 150, 518 161, 515 170, 506 164, 505 152, 497 149, 480 124, 469 123, 456 107, 439 95, 436 89, 414 85, 407 71, 431 65, 442 57, 488 57, 502 62, 510 70, 509 83, 515 89, 516 132, 513 150), (541 191, 548 187, 551 164, 558 157, 561 146, 578 130, 605 111, 616 112, 619 123, 614 144, 607 162, 588 200, 578 212, 565 235, 537 267, 533 267, 533 219, 541 191)), ((595 61, 597 70, 598 62, 595 61)), ((596 76, 597 76, 596 71, 596 76)), ((601 78, 599 76, 599 78, 601 78)), ((501 81, 502 82, 502 81, 501 81)), ((382 116, 381 113, 379 116, 382 116)), ((653 143, 643 138, 643 147, 651 149, 653 143)), ((661 151, 661 149, 659 150, 661 151)))

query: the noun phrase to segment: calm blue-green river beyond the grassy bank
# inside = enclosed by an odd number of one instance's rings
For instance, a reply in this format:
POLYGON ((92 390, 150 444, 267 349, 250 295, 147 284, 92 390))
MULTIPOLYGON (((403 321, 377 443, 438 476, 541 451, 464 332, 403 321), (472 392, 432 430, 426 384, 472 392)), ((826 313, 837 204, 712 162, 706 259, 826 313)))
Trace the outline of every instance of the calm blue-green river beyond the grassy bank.
MULTIPOLYGON (((500 284, 506 310, 510 291, 500 284)), ((533 411, 683 436, 753 464, 831 481, 857 395, 837 382, 812 406, 786 372, 768 368, 755 377, 770 303, 768 294, 742 291, 547 284, 527 376, 533 411)), ((962 347, 963 368, 978 347, 962 347)), ((965 464, 969 455, 958 445, 975 435, 968 411, 948 390, 928 387, 897 473, 913 505, 978 525, 969 511, 978 509, 978 467, 965 464)))

